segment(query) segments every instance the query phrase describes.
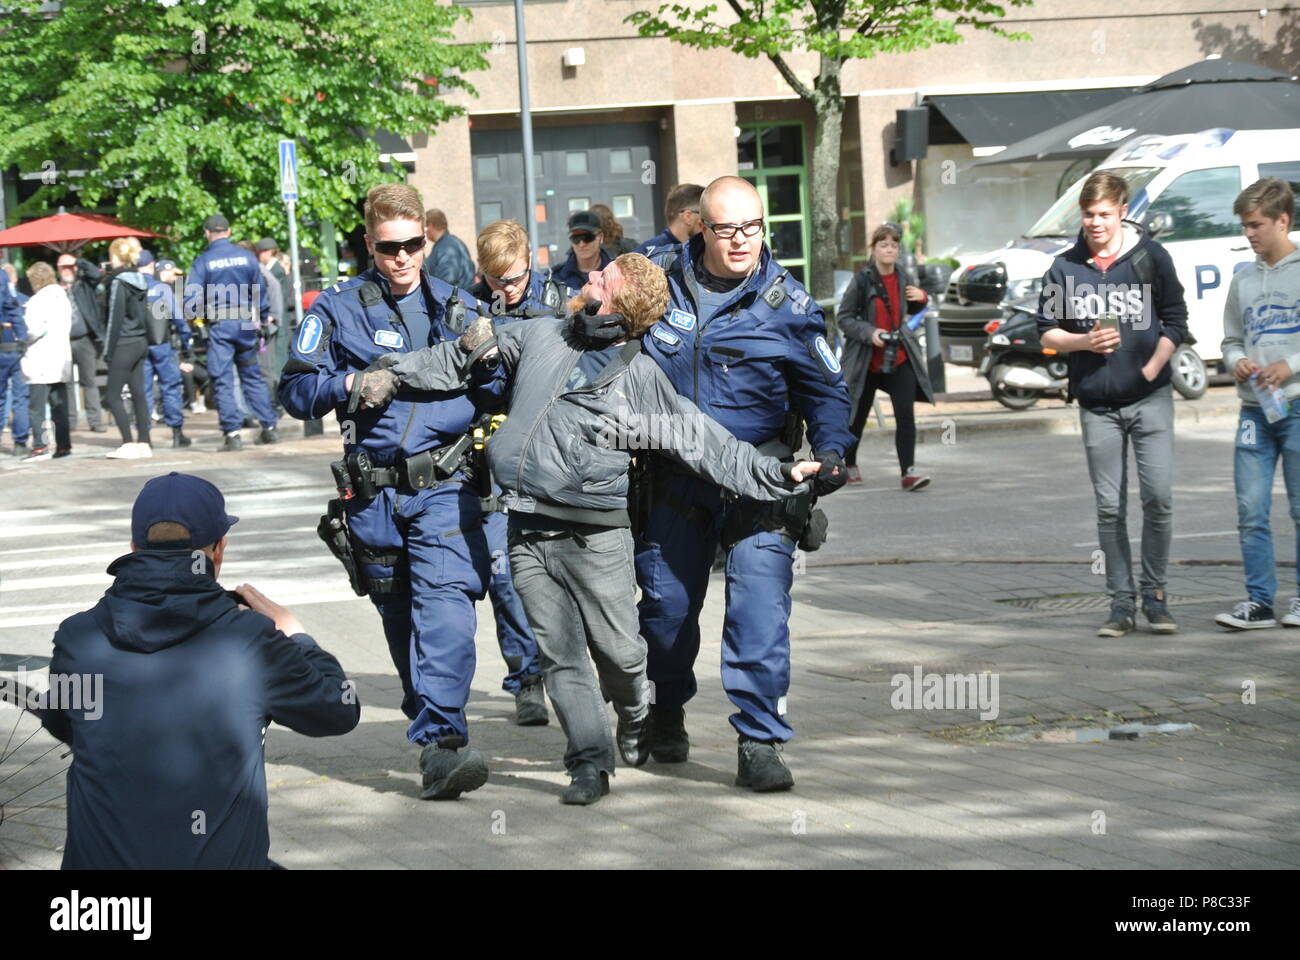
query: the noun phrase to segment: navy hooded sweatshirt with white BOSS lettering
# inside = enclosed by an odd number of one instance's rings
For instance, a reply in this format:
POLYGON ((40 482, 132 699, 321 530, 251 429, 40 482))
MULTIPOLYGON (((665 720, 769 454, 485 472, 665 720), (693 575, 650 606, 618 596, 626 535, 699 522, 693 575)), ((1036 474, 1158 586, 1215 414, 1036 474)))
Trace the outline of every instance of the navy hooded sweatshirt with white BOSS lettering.
POLYGON ((1123 243, 1109 269, 1100 269, 1079 232, 1072 247, 1052 261, 1039 297, 1039 336, 1052 329, 1088 333, 1102 313, 1119 316, 1119 346, 1112 354, 1075 350, 1070 362, 1070 393, 1091 410, 1115 410, 1136 403, 1170 381, 1170 364, 1154 380, 1141 368, 1161 337, 1174 346, 1191 342, 1183 285, 1169 252, 1139 225, 1124 221, 1123 243), (1140 251, 1140 252, 1139 252, 1140 251), (1148 258, 1144 282, 1135 256, 1148 258))

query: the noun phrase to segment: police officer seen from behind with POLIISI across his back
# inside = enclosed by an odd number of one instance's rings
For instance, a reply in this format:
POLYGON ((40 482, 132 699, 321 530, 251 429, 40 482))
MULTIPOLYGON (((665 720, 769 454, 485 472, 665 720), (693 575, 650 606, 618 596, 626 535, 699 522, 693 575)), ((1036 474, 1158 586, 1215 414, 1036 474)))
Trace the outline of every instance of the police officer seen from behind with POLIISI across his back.
POLYGON ((190 265, 185 315, 203 316, 208 328, 208 375, 217 403, 217 421, 225 434, 222 450, 242 450, 243 415, 235 398, 239 386, 261 424, 259 444, 280 442, 270 393, 257 366, 257 330, 270 319, 270 299, 261 281, 257 258, 230 242, 230 221, 213 213, 203 221, 208 248, 190 265))

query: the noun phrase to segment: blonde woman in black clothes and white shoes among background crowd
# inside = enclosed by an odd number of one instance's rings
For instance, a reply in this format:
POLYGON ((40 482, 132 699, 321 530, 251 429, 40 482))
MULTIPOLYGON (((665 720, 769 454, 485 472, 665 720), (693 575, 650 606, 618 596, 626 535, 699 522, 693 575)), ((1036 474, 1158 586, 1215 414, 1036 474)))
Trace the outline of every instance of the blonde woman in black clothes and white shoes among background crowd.
MULTIPOLYGON (((155 330, 150 324, 148 281, 135 269, 140 247, 127 237, 112 242, 108 248, 110 269, 104 277, 108 291, 105 307, 108 321, 104 334, 104 362, 108 366, 108 406, 122 434, 122 445, 108 457, 120 460, 138 460, 153 455, 150 446, 150 395, 144 386, 144 360, 155 330), (131 421, 126 415, 122 386, 131 388, 131 406, 135 410, 135 442, 131 441, 131 421)), ((165 327, 165 320, 164 320, 165 327)))

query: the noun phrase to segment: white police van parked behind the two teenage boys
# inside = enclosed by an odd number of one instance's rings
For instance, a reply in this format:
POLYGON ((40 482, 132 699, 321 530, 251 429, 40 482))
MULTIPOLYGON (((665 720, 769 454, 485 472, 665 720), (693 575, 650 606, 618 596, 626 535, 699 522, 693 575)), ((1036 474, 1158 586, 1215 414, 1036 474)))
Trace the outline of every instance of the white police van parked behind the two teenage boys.
MULTIPOLYGON (((1208 363, 1221 360, 1227 287, 1232 274, 1254 259, 1232 202, 1261 177, 1290 181, 1300 194, 1300 129, 1217 127, 1139 137, 1096 169, 1127 181, 1128 219, 1150 229, 1174 260, 1196 353, 1208 363)), ((1019 239, 1002 250, 961 258, 939 313, 945 360, 979 366, 991 323, 1002 320, 1010 303, 1043 289, 1052 259, 1079 237, 1084 180, 1066 190, 1019 239)), ((1292 232, 1292 239, 1297 238, 1300 232, 1292 232)), ((1199 366, 1195 354, 1183 362, 1199 366)), ((1204 369, 1200 376, 1204 380, 1204 369)))

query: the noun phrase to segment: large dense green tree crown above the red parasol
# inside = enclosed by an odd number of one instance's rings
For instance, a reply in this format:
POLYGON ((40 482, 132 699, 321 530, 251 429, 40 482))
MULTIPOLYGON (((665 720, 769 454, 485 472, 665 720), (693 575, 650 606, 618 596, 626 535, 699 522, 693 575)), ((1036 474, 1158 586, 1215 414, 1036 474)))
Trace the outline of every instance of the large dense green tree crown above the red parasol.
POLYGON ((468 16, 433 0, 5 0, 0 167, 43 174, 21 212, 116 204, 188 259, 218 211, 243 237, 285 237, 276 143, 294 139, 299 217, 348 230, 365 190, 402 178, 369 133, 426 131, 463 112, 439 90, 474 92, 463 73, 486 68, 482 46, 451 42, 468 16))

